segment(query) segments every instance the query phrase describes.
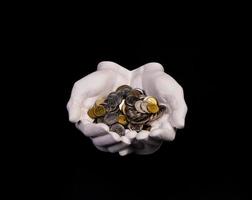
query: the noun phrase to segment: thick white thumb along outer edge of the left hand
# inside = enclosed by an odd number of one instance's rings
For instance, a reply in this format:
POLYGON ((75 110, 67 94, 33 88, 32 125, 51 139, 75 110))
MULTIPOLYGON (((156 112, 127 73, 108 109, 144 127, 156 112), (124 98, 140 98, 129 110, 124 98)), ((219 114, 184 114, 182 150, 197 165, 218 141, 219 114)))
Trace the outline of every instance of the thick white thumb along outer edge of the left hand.
POLYGON ((97 95, 104 95, 113 87, 112 71, 96 71, 77 81, 72 89, 70 100, 67 103, 69 120, 77 122, 81 116, 81 106, 84 99, 97 95), (94 83, 95 84, 92 84, 94 83))

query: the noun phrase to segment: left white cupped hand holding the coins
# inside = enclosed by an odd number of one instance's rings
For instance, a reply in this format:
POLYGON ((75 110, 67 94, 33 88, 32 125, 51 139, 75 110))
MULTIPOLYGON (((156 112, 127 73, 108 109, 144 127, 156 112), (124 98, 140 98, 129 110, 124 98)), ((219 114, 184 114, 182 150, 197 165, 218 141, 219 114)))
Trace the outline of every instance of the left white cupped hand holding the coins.
POLYGON ((71 97, 67 103, 69 120, 84 135, 91 138, 93 144, 102 151, 118 152, 130 145, 130 137, 120 137, 109 131, 106 124, 93 123, 87 111, 97 98, 107 96, 120 85, 129 84, 129 71, 113 62, 101 62, 97 71, 85 76, 74 84, 71 97))

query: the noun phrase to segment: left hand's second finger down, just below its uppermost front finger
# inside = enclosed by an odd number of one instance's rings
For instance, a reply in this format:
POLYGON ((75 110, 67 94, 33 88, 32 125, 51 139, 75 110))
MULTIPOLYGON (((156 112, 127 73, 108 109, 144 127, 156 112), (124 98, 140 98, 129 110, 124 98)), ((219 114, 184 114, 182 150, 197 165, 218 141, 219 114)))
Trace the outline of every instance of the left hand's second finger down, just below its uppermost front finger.
POLYGON ((120 142, 120 136, 115 134, 107 134, 92 139, 96 146, 107 146, 120 142))

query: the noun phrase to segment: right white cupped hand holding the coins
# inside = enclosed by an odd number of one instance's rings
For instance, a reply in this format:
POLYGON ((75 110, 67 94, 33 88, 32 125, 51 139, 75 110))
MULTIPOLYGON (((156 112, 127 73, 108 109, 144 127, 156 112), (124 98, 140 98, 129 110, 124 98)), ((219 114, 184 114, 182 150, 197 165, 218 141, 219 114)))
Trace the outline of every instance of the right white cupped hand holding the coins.
POLYGON ((136 148, 124 149, 123 155, 133 151, 137 154, 151 154, 159 149, 163 140, 174 140, 176 129, 184 127, 187 105, 182 87, 164 72, 159 63, 146 64, 133 73, 132 87, 142 88, 167 109, 161 118, 152 122, 150 131, 142 130, 137 134, 136 148))

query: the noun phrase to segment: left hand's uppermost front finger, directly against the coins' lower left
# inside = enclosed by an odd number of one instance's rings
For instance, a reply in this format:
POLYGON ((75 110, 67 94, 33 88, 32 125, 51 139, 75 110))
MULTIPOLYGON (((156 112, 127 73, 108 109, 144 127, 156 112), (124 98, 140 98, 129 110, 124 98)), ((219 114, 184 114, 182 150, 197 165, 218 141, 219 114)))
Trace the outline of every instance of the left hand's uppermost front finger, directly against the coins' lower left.
POLYGON ((106 124, 94 124, 87 123, 83 124, 82 122, 78 123, 77 128, 84 133, 87 137, 97 137, 106 135, 109 132, 109 127, 106 124))

